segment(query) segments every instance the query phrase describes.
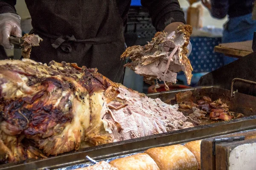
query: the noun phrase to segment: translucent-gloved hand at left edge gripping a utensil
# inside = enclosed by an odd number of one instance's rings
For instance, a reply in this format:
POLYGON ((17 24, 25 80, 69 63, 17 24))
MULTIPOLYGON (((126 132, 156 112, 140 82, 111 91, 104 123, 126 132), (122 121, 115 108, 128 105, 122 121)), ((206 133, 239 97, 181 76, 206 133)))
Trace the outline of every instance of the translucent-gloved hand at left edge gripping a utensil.
POLYGON ((20 16, 13 13, 0 14, 0 44, 4 48, 13 48, 9 41, 10 34, 22 36, 20 16))

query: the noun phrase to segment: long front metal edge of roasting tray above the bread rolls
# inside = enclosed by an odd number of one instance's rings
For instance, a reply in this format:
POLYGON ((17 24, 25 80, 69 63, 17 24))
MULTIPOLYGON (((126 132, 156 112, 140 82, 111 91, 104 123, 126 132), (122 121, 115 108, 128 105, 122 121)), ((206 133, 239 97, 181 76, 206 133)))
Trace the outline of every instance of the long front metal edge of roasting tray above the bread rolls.
POLYGON ((205 139, 214 136, 235 133, 242 130, 256 128, 256 116, 235 119, 230 122, 218 122, 209 125, 191 127, 137 139, 103 144, 96 147, 88 147, 79 151, 65 153, 48 159, 28 162, 24 164, 2 164, 0 170, 43 170, 55 169, 89 161, 86 156, 99 160, 128 153, 140 152, 151 147, 161 147, 172 144, 180 144, 193 140, 205 139))

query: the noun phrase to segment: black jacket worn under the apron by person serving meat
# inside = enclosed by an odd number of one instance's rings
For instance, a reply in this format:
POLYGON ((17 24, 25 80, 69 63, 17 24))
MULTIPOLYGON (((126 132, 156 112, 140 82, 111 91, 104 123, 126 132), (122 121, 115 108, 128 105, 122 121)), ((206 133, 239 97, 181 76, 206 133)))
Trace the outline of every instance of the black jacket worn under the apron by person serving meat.
MULTIPOLYGON (((6 12, 16 13, 15 4, 16 0, 0 0, 0 14, 6 12)), ((116 0, 116 4, 125 25, 131 0, 116 0)), ((141 4, 148 8, 152 23, 157 31, 163 31, 172 22, 185 23, 184 13, 178 0, 141 0, 141 4)))

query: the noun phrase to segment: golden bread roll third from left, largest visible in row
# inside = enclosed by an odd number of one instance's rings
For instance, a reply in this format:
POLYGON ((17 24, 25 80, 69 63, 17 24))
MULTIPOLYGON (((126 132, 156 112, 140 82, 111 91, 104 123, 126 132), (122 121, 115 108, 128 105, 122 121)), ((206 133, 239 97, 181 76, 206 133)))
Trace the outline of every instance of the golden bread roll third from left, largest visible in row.
POLYGON ((198 162, 188 148, 181 144, 154 147, 145 151, 160 170, 198 170, 198 162))

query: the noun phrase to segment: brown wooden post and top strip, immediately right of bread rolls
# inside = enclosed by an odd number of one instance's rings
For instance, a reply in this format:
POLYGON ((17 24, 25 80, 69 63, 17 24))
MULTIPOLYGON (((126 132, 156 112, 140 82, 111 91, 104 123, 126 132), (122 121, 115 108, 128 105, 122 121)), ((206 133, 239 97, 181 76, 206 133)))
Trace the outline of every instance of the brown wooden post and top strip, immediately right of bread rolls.
MULTIPOLYGON (((239 127, 238 127, 239 128, 239 127)), ((231 137, 231 136, 245 136, 245 140, 256 138, 256 130, 249 130, 246 132, 232 133, 224 136, 204 139, 201 142, 201 169, 202 170, 216 170, 216 157, 213 154, 213 140, 231 137)))

